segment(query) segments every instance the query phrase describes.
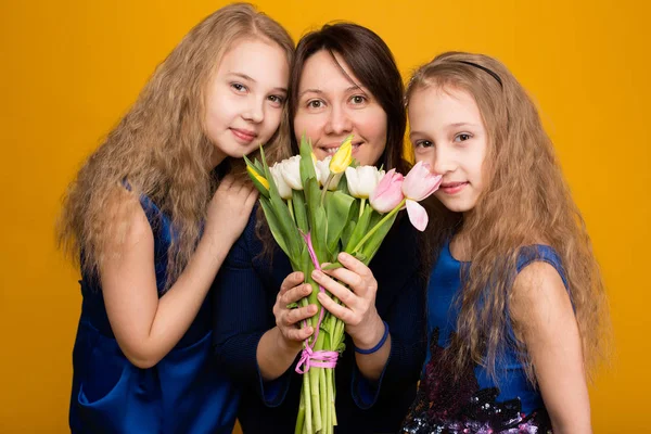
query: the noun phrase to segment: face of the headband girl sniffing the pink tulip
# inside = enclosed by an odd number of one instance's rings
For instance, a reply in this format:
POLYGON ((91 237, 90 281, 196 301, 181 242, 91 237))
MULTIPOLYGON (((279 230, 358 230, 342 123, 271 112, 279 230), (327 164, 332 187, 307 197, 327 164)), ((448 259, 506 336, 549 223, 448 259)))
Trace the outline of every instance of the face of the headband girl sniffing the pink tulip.
POLYGON ((409 124, 416 161, 443 175, 436 197, 452 212, 472 209, 486 188, 483 166, 488 145, 474 98, 457 88, 418 89, 409 101, 409 124))

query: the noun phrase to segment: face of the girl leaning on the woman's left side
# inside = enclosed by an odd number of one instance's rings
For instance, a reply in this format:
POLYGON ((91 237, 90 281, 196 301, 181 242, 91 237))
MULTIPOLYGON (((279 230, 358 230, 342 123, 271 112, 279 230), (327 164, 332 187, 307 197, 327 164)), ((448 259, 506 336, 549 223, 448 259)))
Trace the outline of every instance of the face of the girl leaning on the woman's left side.
POLYGON ((280 125, 289 79, 285 52, 273 42, 242 40, 224 54, 206 92, 214 166, 267 143, 280 125))

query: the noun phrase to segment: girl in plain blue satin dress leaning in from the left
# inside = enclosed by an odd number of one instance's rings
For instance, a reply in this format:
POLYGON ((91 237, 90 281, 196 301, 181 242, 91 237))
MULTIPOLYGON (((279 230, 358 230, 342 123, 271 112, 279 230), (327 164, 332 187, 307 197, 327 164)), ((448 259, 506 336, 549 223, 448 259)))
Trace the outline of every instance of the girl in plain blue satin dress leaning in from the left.
MULTIPOLYGON (((196 25, 87 159, 60 242, 80 258, 73 433, 230 433, 206 295, 256 200, 241 157, 286 137, 294 44, 252 5, 196 25)), ((253 155, 255 156, 255 155, 253 155)))

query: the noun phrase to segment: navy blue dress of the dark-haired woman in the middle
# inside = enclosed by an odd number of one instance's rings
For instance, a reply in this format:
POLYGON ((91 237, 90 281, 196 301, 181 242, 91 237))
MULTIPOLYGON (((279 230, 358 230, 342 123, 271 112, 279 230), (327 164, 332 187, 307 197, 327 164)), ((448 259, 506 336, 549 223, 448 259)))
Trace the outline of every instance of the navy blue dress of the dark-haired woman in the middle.
MULTIPOLYGON (((263 334, 276 326, 273 304, 292 268, 278 246, 271 258, 259 255, 263 243, 255 224, 254 210, 215 281, 215 352, 242 385, 238 417, 244 433, 286 434, 294 432, 302 378, 294 363, 279 379, 264 381, 256 350, 263 334)), ((378 280, 375 307, 392 336, 391 354, 380 380, 366 381, 346 337, 335 368, 337 434, 395 433, 413 401, 425 356, 425 279, 417 237, 405 216, 370 264, 378 280)))

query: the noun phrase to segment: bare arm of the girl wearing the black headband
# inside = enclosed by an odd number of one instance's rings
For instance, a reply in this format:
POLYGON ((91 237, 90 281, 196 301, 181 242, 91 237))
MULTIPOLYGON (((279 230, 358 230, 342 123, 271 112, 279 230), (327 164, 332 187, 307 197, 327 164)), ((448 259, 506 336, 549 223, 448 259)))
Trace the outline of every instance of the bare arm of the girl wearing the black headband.
POLYGON ((582 340, 557 270, 546 263, 524 268, 515 279, 510 309, 518 339, 533 361, 553 432, 591 433, 582 340))

